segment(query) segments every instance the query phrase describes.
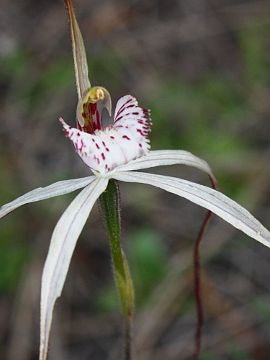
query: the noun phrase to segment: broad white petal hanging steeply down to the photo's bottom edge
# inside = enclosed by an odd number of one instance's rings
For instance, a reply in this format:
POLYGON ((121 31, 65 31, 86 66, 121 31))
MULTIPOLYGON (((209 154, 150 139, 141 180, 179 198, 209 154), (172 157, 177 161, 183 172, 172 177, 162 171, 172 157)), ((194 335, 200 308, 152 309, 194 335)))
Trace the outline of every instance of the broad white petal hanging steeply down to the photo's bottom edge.
POLYGON ((77 239, 108 179, 99 178, 83 189, 58 221, 52 234, 42 275, 40 315, 40 360, 46 360, 52 313, 61 295, 77 239))

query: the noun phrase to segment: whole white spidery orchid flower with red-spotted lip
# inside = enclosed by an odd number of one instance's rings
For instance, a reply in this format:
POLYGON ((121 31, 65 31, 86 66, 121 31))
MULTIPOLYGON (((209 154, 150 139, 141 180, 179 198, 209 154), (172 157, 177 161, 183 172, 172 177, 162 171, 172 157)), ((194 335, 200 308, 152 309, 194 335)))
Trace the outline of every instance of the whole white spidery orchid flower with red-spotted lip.
MULTIPOLYGON (((80 179, 63 180, 44 188, 37 188, 0 208, 0 217, 3 217, 24 204, 64 195, 83 188, 61 216, 51 238, 41 283, 40 360, 47 358, 55 301, 61 295, 78 237, 98 198, 103 196, 103 208, 112 238, 119 235, 117 221, 115 227, 110 222, 110 217, 114 217, 115 220, 119 213, 117 211, 114 213, 114 210, 111 210, 108 205, 108 201, 112 201, 115 202, 113 206, 118 206, 115 193, 108 192, 110 186, 114 186, 110 185, 115 184, 112 182, 114 180, 152 185, 186 198, 270 247, 270 232, 246 209, 226 195, 191 181, 138 171, 157 166, 181 164, 195 167, 208 174, 213 182, 215 181, 209 165, 190 152, 150 150, 150 112, 140 107, 133 96, 126 95, 120 98, 116 104, 111 124, 104 125, 103 110, 106 109, 111 115, 111 97, 104 87, 92 87, 90 84, 84 43, 72 0, 65 0, 65 3, 70 19, 79 101, 76 127, 70 127, 63 119, 60 121, 66 136, 72 141, 76 152, 92 175, 80 179), (110 197, 110 194, 113 196, 110 197)), ((117 209, 117 206, 114 208, 117 209)), ((126 302, 124 304, 126 313, 130 314, 133 289, 127 261, 121 246, 112 251, 115 251, 114 265, 116 269, 117 266, 120 269, 116 273, 116 277, 122 273, 126 281, 124 284, 125 296, 122 300, 123 303, 126 302)), ((121 282, 118 281, 118 285, 121 293, 121 282)))

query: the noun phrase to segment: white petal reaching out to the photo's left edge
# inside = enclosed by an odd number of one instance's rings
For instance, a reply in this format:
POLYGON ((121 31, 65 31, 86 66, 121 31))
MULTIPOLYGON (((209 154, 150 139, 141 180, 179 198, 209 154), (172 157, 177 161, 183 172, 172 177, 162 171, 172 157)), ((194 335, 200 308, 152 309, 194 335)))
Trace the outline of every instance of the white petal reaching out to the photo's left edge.
POLYGON ((52 185, 29 191, 28 193, 18 197, 17 199, 11 201, 10 203, 1 206, 0 218, 2 218, 3 216, 7 215, 11 211, 17 209, 22 205, 35 201, 49 199, 54 196, 68 194, 72 191, 81 189, 82 187, 85 187, 86 185, 90 184, 94 179, 95 176, 87 176, 81 179, 62 180, 52 185))

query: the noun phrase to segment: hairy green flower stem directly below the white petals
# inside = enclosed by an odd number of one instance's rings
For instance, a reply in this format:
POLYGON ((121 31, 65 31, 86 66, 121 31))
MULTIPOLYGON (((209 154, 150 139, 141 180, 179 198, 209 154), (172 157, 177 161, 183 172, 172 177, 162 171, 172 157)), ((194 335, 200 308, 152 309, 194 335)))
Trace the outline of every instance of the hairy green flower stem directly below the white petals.
POLYGON ((124 315, 124 359, 132 358, 132 319, 134 313, 134 289, 128 262, 121 248, 121 217, 119 190, 115 180, 110 180, 106 191, 100 197, 105 217, 112 256, 115 284, 120 296, 124 315))

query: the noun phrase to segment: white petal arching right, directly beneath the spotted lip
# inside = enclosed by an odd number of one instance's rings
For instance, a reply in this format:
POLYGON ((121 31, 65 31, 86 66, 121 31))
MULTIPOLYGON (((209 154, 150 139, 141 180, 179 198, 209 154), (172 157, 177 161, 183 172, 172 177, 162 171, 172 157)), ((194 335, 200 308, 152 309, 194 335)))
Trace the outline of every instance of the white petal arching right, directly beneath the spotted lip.
POLYGON ((117 171, 141 170, 175 164, 193 166, 206 172, 214 179, 214 175, 206 161, 184 150, 152 150, 145 156, 119 166, 117 171))

